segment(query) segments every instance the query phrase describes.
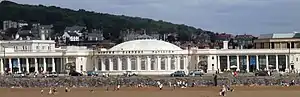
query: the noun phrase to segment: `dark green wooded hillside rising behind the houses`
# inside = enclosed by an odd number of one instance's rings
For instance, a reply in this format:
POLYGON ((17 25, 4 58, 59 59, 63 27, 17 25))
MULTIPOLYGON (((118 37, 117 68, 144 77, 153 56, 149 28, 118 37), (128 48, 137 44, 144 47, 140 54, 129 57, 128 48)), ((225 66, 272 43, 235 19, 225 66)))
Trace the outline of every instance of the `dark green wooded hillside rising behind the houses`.
MULTIPOLYGON (((127 29, 156 32, 159 34, 177 33, 180 41, 190 40, 192 34, 213 32, 204 31, 184 24, 173 24, 163 20, 152 20, 141 17, 129 17, 124 15, 111 15, 86 11, 84 9, 71 10, 56 6, 17 4, 11 1, 0 3, 0 21, 24 20, 29 23, 40 23, 44 25, 53 24, 55 33, 62 33, 65 27, 79 25, 91 29, 102 29, 105 38, 117 39, 120 31, 127 29)), ((0 23, 2 27, 2 23, 0 23)))

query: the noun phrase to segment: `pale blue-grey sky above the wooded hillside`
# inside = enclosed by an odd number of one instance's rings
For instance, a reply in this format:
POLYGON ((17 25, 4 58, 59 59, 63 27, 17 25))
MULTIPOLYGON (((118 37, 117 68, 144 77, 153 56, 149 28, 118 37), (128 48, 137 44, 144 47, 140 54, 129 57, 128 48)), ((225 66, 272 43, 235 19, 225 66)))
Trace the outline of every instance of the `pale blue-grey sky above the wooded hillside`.
POLYGON ((300 32, 300 0, 11 0, 101 13, 139 16, 213 32, 300 32))

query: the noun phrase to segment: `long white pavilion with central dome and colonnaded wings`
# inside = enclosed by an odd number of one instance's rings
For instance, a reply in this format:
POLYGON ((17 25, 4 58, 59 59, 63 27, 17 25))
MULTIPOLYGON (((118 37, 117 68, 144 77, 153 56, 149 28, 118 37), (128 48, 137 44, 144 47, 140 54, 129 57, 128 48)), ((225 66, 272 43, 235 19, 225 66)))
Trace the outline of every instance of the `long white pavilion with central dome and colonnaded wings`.
POLYGON ((297 48, 183 50, 154 39, 127 41, 110 49, 99 50, 77 46, 54 48, 54 41, 51 40, 0 43, 1 73, 63 73, 74 68, 77 72, 97 70, 112 75, 125 71, 140 75, 162 75, 195 69, 204 69, 208 73, 226 70, 253 72, 258 69, 287 72, 300 69, 300 50, 297 48))

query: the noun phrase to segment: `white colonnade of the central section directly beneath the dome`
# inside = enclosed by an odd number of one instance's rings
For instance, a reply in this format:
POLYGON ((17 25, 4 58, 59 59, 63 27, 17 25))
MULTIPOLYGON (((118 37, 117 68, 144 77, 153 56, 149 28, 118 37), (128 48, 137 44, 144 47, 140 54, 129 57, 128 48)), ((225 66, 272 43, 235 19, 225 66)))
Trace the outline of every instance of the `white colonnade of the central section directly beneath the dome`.
POLYGON ((106 56, 93 63, 98 71, 174 71, 186 70, 187 56, 106 56))

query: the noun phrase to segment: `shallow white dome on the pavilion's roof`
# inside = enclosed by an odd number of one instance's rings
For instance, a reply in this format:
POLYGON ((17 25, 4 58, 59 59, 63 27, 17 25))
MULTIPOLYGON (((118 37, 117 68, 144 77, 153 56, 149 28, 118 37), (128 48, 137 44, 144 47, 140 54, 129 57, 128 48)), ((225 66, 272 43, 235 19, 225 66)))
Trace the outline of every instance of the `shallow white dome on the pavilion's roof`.
POLYGON ((109 50, 182 50, 180 47, 169 42, 146 39, 146 40, 132 40, 118 44, 109 50))

